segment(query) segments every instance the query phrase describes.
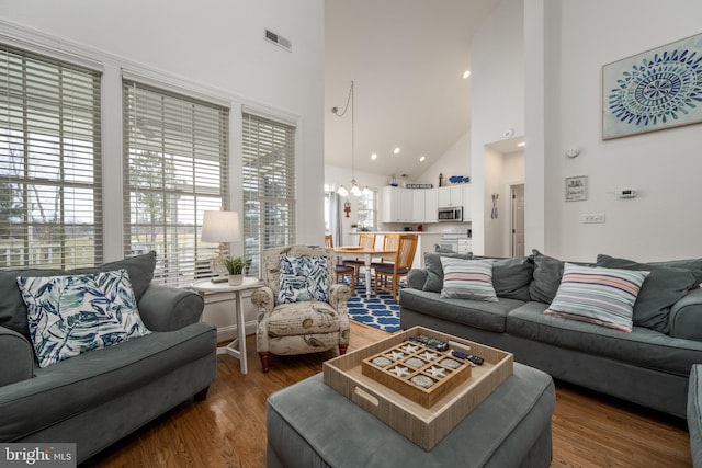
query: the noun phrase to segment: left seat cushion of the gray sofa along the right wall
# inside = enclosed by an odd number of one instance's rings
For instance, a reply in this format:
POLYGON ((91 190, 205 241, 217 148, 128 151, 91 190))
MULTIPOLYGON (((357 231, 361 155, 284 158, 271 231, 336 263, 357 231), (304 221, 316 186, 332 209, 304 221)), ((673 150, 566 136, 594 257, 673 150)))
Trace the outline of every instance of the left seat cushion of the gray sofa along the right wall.
POLYGON ((498 303, 450 299, 442 298, 439 293, 409 288, 403 289, 399 295, 400 315, 403 308, 407 308, 438 319, 464 323, 497 333, 505 331, 507 315, 523 304, 522 300, 516 299, 500 299, 498 303))

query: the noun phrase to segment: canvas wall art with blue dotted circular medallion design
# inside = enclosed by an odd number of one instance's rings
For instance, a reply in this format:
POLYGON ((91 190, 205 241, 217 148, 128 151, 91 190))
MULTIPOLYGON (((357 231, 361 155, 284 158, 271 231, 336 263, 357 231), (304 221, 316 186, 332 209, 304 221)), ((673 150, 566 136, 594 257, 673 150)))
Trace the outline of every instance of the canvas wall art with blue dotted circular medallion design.
POLYGON ((702 34, 602 68, 602 139, 702 122, 702 34))

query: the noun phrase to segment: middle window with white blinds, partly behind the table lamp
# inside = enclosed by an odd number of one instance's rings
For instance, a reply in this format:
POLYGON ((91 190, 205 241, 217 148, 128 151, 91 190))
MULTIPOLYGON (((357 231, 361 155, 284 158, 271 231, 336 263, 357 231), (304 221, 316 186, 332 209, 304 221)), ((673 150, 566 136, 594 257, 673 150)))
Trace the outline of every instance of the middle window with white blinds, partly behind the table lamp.
POLYGON ((228 110, 123 80, 125 255, 155 250, 155 279, 210 275, 203 212, 226 205, 228 110))

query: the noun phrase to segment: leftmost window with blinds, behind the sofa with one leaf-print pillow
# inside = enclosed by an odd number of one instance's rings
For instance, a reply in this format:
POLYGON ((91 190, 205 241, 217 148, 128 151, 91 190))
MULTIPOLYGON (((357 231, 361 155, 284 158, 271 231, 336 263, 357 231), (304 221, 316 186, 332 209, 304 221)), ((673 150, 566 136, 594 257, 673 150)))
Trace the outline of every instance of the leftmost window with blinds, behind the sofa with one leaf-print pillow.
POLYGON ((0 45, 0 267, 102 262, 100 82, 0 45))

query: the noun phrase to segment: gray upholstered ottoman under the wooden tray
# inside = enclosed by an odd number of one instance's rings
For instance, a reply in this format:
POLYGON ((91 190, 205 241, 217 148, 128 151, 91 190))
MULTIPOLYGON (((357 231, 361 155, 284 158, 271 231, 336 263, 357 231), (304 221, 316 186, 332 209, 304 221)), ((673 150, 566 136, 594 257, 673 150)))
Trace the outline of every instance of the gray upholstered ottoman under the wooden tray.
POLYGON ((269 467, 547 467, 551 376, 514 373, 431 452, 405 438, 317 374, 268 398, 269 467))

